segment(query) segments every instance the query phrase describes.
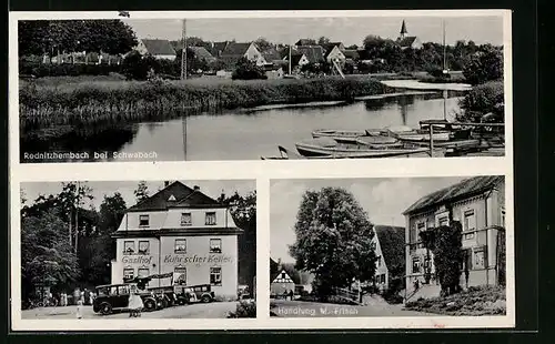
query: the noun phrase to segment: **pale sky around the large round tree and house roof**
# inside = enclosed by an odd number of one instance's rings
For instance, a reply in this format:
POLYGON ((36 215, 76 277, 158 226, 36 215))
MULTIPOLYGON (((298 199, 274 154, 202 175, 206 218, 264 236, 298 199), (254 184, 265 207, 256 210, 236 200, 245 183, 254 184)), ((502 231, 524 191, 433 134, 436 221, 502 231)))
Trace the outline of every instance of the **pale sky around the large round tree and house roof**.
POLYGON ((405 226, 403 212, 418 199, 455 184, 461 178, 314 179, 275 180, 270 186, 270 256, 294 263, 289 245, 295 242, 293 226, 306 190, 325 186, 350 191, 373 224, 405 226))

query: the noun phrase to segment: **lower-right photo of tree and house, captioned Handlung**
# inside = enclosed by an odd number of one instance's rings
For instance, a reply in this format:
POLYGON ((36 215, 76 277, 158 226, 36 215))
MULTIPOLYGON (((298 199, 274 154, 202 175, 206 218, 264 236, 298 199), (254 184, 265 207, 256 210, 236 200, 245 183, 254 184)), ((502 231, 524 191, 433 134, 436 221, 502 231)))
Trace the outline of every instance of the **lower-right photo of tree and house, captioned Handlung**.
POLYGON ((270 204, 274 320, 513 307, 504 175, 272 180, 270 204))

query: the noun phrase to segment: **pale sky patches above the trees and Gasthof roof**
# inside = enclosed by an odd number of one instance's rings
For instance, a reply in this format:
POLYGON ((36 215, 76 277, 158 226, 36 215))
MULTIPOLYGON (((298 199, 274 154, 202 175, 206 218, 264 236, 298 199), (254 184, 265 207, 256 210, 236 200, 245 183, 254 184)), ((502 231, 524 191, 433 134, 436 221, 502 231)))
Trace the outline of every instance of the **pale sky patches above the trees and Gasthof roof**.
MULTIPOLYGON (((183 184, 193 188, 194 185, 199 185, 201 188, 201 192, 204 194, 218 199, 222 191, 231 195, 239 192, 239 194, 246 194, 256 189, 256 182, 254 180, 233 180, 233 181, 181 181, 183 184)), ((87 182, 87 185, 92 188, 93 200, 91 203, 94 205, 97 210, 100 209, 100 204, 102 203, 104 195, 111 196, 114 192, 120 192, 123 200, 125 200, 125 204, 129 206, 134 205, 137 203, 133 191, 137 189, 139 181, 134 182, 87 182)), ((163 189, 163 181, 148 181, 147 185, 149 186, 150 194, 154 194, 159 189, 163 189)), ((32 204, 32 202, 41 194, 50 195, 58 194, 62 191, 61 182, 32 182, 32 183, 21 183, 21 189, 24 192, 24 198, 28 200, 26 205, 32 204)), ((89 205, 88 204, 88 205, 89 205)))

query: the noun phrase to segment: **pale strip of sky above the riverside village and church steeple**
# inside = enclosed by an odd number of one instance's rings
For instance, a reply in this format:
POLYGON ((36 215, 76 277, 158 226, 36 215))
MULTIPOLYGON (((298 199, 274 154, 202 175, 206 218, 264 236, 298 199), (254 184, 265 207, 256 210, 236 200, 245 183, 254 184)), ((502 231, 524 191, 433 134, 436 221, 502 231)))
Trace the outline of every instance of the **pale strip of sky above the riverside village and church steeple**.
MULTIPOLYGON (((440 17, 351 17, 351 18, 226 18, 188 19, 186 34, 208 41, 253 41, 263 37, 275 43, 294 43, 300 38, 324 36, 345 45, 362 44, 367 34, 396 39, 405 19, 408 36, 422 42, 442 42, 440 17)), ((180 19, 124 19, 140 39, 181 39, 180 19)), ((446 42, 473 40, 475 43, 503 44, 502 17, 445 18, 446 42)))

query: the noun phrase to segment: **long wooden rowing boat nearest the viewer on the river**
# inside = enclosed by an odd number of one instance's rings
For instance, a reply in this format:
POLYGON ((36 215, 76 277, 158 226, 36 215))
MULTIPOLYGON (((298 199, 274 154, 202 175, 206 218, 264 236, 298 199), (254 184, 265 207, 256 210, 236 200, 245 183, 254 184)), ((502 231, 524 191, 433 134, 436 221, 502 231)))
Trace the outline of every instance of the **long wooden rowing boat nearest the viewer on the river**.
POLYGON ((387 158, 425 153, 427 148, 420 146, 376 146, 370 148, 359 144, 341 144, 330 138, 312 139, 295 143, 296 151, 303 156, 332 156, 334 159, 349 158, 387 158))

